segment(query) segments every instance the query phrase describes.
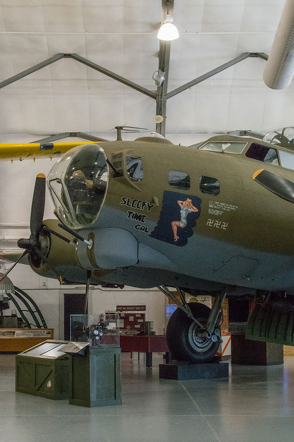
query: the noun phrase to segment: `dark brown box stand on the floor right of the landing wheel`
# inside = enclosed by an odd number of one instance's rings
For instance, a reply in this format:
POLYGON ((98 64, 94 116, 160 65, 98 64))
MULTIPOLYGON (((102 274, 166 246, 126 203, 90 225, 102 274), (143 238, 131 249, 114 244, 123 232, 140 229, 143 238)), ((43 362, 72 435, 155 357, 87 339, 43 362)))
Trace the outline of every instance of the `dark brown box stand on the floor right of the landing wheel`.
POLYGON ((245 339, 245 333, 231 333, 232 364, 278 365, 284 363, 282 344, 245 339))

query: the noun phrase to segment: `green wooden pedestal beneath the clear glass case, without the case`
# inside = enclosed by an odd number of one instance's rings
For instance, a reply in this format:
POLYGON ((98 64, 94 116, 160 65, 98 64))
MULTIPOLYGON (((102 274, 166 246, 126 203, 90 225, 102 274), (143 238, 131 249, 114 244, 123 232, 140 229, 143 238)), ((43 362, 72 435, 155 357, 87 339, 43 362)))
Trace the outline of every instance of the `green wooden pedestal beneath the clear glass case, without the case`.
POLYGON ((85 356, 71 354, 69 368, 71 405, 122 404, 120 348, 87 348, 85 356))

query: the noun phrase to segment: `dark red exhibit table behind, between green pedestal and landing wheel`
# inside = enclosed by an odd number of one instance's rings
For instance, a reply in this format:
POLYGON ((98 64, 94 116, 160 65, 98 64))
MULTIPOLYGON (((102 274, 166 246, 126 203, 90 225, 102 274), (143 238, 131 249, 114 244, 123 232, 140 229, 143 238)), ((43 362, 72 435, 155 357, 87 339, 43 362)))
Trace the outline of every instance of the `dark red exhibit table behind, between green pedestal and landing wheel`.
POLYGON ((146 353, 146 366, 152 367, 152 353, 165 353, 166 360, 170 357, 170 350, 165 335, 120 335, 122 352, 146 353))

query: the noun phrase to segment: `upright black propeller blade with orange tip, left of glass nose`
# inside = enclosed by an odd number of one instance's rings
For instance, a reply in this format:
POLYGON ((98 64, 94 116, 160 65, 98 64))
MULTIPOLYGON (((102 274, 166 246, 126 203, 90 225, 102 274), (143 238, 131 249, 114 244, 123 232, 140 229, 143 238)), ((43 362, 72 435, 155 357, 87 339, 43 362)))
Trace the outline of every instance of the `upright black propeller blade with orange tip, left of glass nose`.
POLYGON ((35 189, 32 199, 30 231, 33 241, 38 241, 42 229, 45 208, 46 176, 39 173, 36 176, 35 189))

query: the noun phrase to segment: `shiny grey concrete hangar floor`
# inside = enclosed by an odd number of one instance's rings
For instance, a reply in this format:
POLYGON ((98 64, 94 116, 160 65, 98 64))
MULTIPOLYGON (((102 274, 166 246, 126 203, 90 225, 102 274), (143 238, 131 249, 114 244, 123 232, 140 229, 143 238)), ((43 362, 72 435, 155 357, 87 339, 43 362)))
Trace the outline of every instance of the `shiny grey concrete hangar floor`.
POLYGON ((294 357, 232 366, 229 379, 159 380, 123 354, 123 405, 84 408, 15 392, 15 356, 0 355, 0 442, 290 442, 294 357))

